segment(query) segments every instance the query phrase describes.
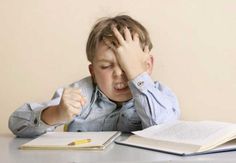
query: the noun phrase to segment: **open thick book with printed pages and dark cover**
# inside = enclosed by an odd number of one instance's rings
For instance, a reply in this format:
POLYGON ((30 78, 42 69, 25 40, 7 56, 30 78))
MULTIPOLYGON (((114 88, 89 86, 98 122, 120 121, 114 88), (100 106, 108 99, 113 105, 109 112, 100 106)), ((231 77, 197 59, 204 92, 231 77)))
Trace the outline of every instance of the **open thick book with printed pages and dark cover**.
POLYGON ((133 132, 118 144, 177 155, 236 150, 236 124, 216 121, 176 121, 133 132))

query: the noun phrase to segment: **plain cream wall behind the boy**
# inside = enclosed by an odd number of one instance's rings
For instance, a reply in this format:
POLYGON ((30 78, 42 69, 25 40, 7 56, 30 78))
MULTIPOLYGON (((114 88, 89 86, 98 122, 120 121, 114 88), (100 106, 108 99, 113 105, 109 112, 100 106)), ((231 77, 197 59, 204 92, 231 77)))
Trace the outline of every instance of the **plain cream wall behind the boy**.
POLYGON ((176 93, 182 119, 236 122, 236 1, 0 0, 0 132, 24 102, 88 75, 91 27, 119 13, 149 30, 153 78, 176 93))

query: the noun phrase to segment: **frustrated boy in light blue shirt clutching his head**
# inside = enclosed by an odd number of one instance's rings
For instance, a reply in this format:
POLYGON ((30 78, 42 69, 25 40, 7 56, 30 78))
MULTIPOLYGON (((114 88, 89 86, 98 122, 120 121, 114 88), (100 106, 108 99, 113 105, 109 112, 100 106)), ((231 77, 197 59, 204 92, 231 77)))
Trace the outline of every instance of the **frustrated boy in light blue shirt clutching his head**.
POLYGON ((178 119, 175 95, 150 77, 151 49, 148 32, 131 17, 101 19, 87 41, 91 76, 46 103, 24 104, 10 116, 10 130, 34 137, 67 124, 74 132, 129 132, 178 119))

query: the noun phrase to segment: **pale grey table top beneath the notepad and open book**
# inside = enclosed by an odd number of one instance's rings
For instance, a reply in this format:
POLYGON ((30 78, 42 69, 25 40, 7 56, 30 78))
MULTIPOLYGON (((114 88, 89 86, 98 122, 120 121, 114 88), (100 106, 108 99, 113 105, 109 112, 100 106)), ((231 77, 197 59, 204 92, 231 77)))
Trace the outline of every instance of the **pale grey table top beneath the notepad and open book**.
MULTIPOLYGON (((122 134, 120 138, 127 135, 122 134)), ((128 147, 112 143, 102 151, 82 150, 19 150, 18 147, 31 139, 16 138, 12 134, 0 134, 1 163, 236 163, 236 151, 197 155, 177 156, 151 150, 128 147)))

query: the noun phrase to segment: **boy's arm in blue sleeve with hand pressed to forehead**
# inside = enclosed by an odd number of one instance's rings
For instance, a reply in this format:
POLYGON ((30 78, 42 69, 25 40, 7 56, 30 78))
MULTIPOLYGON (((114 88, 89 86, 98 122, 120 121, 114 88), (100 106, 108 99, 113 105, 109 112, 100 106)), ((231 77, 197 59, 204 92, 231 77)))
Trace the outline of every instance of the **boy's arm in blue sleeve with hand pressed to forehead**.
POLYGON ((142 120, 143 128, 176 120, 180 115, 177 98, 168 88, 154 83, 149 76, 153 61, 148 47, 145 46, 142 50, 139 36, 137 34, 132 36, 127 27, 124 28, 124 36, 116 27, 112 27, 112 30, 119 45, 114 47, 104 41, 114 50, 129 80, 135 108, 142 120))

